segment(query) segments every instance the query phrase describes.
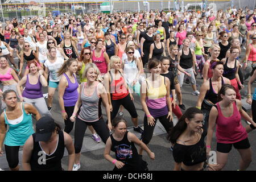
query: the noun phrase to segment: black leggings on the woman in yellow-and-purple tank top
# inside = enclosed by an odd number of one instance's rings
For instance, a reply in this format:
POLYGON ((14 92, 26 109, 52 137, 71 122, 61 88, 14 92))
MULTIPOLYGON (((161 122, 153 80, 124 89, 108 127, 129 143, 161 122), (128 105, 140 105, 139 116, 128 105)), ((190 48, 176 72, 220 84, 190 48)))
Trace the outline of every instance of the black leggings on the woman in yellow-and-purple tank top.
MULTIPOLYGON (((155 125, 156 125, 156 121, 159 119, 159 121, 163 125, 164 129, 166 129, 167 133, 169 133, 169 131, 172 129, 172 127, 174 127, 174 123, 172 121, 170 122, 170 118, 167 118, 167 115, 163 115, 163 116, 156 117, 156 118, 154 117, 154 119, 155 119, 155 125)), ((144 131, 141 136, 143 143, 145 143, 145 144, 150 143, 150 140, 154 133, 155 125, 154 126, 148 125, 147 117, 146 117, 146 115, 144 116, 144 131)))

